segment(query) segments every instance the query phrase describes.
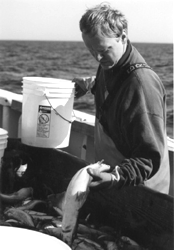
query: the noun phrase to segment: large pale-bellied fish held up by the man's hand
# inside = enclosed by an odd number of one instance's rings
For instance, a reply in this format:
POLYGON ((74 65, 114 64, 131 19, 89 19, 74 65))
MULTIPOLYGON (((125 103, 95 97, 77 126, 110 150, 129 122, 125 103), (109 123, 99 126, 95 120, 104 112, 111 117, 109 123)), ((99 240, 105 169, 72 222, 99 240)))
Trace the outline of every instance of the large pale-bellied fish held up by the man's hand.
MULTIPOLYGON (((77 171, 67 187, 63 204, 62 240, 69 246, 72 245, 75 238, 79 210, 87 199, 89 184, 92 181, 92 177, 88 174, 87 169, 101 167, 101 163, 102 161, 90 164, 77 171)), ((102 165, 103 170, 108 170, 107 165, 102 165)))

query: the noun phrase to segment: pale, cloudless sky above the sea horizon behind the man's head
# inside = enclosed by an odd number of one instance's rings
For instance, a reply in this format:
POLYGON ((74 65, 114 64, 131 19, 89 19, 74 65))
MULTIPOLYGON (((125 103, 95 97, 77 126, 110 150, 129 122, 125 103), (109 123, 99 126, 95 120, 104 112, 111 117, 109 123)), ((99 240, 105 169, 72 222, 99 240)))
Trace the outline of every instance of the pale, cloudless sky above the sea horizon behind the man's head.
MULTIPOLYGON (((0 0, 0 39, 82 41, 79 20, 103 0, 0 0)), ((173 43, 173 0, 108 0, 132 42, 173 43)))

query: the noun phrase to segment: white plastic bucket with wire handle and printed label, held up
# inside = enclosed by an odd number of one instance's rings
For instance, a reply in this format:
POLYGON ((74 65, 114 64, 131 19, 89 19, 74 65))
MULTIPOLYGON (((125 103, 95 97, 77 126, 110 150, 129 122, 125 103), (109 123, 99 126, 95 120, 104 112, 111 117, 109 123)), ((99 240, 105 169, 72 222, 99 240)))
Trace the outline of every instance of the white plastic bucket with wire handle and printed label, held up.
POLYGON ((41 148, 67 147, 73 103, 73 82, 23 77, 22 143, 41 148))

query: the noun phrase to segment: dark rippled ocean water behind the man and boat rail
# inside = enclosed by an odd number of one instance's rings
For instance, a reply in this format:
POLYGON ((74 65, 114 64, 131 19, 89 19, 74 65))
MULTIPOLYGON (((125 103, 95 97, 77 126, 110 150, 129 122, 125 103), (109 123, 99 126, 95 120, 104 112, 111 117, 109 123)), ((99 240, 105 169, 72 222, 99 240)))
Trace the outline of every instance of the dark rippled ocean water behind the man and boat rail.
MULTIPOLYGON (((133 43, 160 76, 167 92, 167 134, 173 137, 173 45, 133 43)), ((95 75, 98 64, 83 42, 0 41, 0 88, 21 94, 22 77, 40 76, 72 80, 95 75)), ((88 94, 74 108, 95 113, 88 94)))

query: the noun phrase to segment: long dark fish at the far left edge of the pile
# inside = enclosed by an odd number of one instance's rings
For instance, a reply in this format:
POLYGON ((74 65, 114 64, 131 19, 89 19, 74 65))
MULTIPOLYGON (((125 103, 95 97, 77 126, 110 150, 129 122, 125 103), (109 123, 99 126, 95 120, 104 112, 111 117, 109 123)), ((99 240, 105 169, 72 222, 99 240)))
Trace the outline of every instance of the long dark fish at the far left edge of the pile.
POLYGON ((33 188, 26 187, 26 188, 21 188, 20 190, 12 194, 0 193, 0 201, 2 203, 6 203, 9 205, 15 205, 30 196, 33 196, 33 188))

